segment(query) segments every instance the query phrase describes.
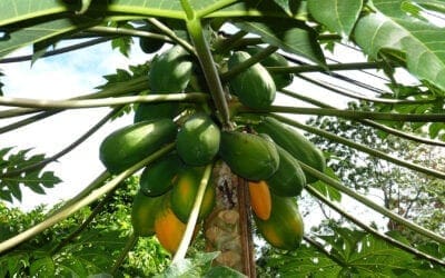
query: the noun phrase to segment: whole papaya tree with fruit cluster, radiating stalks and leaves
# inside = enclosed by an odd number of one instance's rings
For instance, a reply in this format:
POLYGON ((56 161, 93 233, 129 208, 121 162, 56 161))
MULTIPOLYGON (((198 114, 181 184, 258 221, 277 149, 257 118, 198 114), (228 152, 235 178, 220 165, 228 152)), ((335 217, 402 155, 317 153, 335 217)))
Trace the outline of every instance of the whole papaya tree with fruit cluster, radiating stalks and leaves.
MULTIPOLYGON (((1 62, 32 63, 109 41, 123 54, 131 47, 152 54, 129 71, 106 76, 107 83, 92 93, 66 100, 0 97, 1 106, 12 107, 0 111, 2 119, 12 120, 1 128, 3 136, 68 109, 110 109, 85 136, 55 156, 29 157, 29 150, 14 152, 2 146, 0 197, 6 201, 20 199, 23 187, 44 193, 46 188, 60 183, 46 166, 76 149, 106 122, 134 115, 131 125, 117 128, 97 146, 97 159, 106 170, 81 192, 24 229, 9 228, 8 219, 2 220, 3 230, 17 234, 2 237, 0 244, 4 276, 122 276, 120 268, 137 242, 156 238, 171 255, 171 265, 161 277, 255 277, 254 228, 264 239, 261 245, 279 250, 268 267, 281 275, 438 277, 444 272, 443 235, 345 187, 326 165, 332 153, 323 152, 297 130, 444 179, 439 168, 419 165, 415 158, 397 158, 301 123, 297 117, 348 119, 384 135, 442 148, 445 34, 436 22, 445 11, 442 1, 7 0, 0 9, 1 62), (75 39, 82 42, 57 47, 75 39), (367 61, 328 62, 329 50, 342 43, 358 49, 367 61), (27 46, 33 50, 30 57, 14 56, 14 50, 27 46), (350 93, 306 75, 318 72, 365 86, 338 72, 366 69, 379 70, 387 90, 350 93), (399 70, 411 72, 417 83, 404 85, 399 70), (303 82, 377 105, 340 109, 314 93, 301 95, 303 82), (278 105, 285 97, 290 98, 287 105, 278 105), (297 105, 300 101, 310 107, 297 105), (422 137, 425 130, 427 136, 422 137), (128 211, 130 232, 123 232, 125 245, 97 248, 107 255, 106 262, 90 267, 91 261, 78 259, 76 266, 63 265, 65 272, 60 272, 57 262, 67 256, 63 250, 43 248, 32 258, 26 257, 23 248, 33 248, 29 242, 44 240, 40 235, 49 235, 88 206, 95 209, 77 229, 70 226, 58 231, 67 238, 63 247, 91 251, 96 241, 85 246, 81 241, 95 231, 87 227, 97 214, 112 208, 116 190, 134 176, 140 180, 128 211), (332 235, 310 234, 298 207, 303 192, 338 211, 355 228, 332 227, 332 235), (416 245, 365 224, 342 207, 342 196, 404 226, 427 244, 416 245), (194 249, 194 242, 199 248, 194 249), (17 266, 21 261, 28 272, 20 272, 22 268, 17 266)), ((117 211, 122 212, 109 214, 117 211)))

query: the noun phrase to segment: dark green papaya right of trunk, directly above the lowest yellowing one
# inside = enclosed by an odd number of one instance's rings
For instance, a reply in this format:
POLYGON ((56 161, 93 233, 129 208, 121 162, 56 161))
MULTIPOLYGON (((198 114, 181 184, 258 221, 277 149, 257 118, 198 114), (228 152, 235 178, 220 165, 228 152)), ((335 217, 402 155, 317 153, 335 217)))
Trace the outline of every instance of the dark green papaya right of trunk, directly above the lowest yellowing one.
POLYGON ((289 152, 279 146, 276 147, 279 155, 279 166, 266 182, 275 195, 283 197, 298 196, 306 185, 305 172, 289 152))

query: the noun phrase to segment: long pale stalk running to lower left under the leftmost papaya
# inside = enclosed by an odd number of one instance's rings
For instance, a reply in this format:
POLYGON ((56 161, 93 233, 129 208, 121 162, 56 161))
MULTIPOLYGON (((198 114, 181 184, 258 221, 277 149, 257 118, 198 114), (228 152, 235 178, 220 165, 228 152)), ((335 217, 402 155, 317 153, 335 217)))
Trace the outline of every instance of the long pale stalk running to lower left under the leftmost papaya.
MULTIPOLYGON (((159 157, 168 153, 175 148, 175 143, 169 143, 162 147, 160 150, 156 151, 151 156, 147 157, 146 159, 139 161, 138 163, 131 166, 127 170, 120 172, 119 175, 115 176, 111 180, 109 180, 106 185, 103 185, 100 188, 97 188, 96 190, 92 190, 89 192, 89 195, 85 196, 83 198, 79 198, 79 195, 75 197, 76 201, 69 201, 67 205, 65 205, 62 208, 58 209, 53 214, 51 214, 49 217, 47 217, 43 221, 32 226, 31 228, 20 232, 17 236, 13 236, 2 242, 0 242, 0 254, 22 244, 23 241, 32 238, 33 236, 42 232, 47 228, 60 222, 61 220, 68 218, 82 207, 91 203, 92 201, 99 199, 101 196, 105 193, 111 191, 113 188, 116 188, 122 180, 125 180, 127 177, 131 176, 146 165, 155 161, 159 157)), ((96 179, 90 186, 87 188, 96 188, 98 186, 98 182, 101 181, 103 178, 109 177, 108 172, 103 172, 101 176, 99 176, 98 179, 96 179)), ((83 190, 82 195, 85 195, 87 191, 83 190)))

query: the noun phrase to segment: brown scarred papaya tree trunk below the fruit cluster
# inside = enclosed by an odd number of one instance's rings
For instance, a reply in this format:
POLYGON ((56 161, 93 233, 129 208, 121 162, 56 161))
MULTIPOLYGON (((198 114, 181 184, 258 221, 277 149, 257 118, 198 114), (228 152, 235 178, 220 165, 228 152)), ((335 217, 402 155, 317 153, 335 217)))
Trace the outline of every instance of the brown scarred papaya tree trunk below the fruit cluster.
POLYGON ((204 227, 207 251, 220 251, 215 265, 256 277, 246 181, 224 162, 216 165, 212 175, 216 205, 204 227))

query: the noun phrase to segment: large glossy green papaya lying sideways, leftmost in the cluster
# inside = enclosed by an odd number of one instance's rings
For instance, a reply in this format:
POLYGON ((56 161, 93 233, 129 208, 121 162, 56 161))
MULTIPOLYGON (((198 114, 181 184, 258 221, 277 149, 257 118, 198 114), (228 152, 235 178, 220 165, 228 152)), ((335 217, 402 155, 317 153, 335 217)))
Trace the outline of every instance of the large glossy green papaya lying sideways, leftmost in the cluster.
POLYGON ((119 173, 172 142, 177 132, 171 119, 137 122, 107 136, 99 147, 99 158, 111 173, 119 173))

